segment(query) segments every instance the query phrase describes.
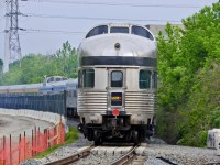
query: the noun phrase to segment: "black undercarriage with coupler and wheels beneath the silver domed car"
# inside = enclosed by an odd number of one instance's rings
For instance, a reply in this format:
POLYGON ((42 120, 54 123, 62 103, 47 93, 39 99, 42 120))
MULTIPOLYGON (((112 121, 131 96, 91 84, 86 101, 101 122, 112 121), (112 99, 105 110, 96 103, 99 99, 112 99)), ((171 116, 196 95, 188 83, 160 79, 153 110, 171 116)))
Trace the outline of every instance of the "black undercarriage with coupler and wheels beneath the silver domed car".
POLYGON ((95 145, 102 142, 129 142, 139 144, 153 135, 152 124, 131 124, 130 116, 102 116, 102 124, 80 123, 78 130, 95 145))

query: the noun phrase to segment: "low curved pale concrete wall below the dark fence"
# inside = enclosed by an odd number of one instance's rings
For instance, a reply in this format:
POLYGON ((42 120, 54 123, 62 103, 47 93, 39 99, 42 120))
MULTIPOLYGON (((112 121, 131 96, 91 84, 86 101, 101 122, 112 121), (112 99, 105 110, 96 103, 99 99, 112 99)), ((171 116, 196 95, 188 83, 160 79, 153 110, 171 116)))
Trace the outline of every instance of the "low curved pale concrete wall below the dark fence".
MULTIPOLYGON (((0 114, 29 117, 29 118, 48 121, 54 124, 58 124, 61 121, 61 114, 52 113, 52 112, 44 112, 44 111, 29 110, 29 109, 3 109, 3 108, 0 108, 0 114)), ((64 116, 62 116, 62 123, 66 127, 66 119, 64 118, 64 116)))

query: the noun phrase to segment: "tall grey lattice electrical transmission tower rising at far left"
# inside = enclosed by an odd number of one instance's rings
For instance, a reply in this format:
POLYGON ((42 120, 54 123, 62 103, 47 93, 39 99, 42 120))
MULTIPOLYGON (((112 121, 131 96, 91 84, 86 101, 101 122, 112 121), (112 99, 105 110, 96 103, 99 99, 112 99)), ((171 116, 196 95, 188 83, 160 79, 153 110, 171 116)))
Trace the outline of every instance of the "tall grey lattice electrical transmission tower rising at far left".
POLYGON ((21 59, 21 46, 19 41, 19 0, 6 0, 6 47, 4 73, 9 70, 9 64, 21 59))

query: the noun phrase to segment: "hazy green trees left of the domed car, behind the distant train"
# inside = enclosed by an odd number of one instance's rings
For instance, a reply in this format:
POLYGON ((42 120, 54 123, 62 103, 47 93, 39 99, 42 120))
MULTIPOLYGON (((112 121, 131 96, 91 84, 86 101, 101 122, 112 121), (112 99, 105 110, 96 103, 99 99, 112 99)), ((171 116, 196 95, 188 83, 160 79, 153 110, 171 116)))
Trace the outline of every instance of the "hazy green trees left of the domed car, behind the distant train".
POLYGON ((54 55, 30 54, 10 65, 10 70, 0 79, 1 85, 42 82, 45 76, 77 77, 77 51, 68 42, 54 55))

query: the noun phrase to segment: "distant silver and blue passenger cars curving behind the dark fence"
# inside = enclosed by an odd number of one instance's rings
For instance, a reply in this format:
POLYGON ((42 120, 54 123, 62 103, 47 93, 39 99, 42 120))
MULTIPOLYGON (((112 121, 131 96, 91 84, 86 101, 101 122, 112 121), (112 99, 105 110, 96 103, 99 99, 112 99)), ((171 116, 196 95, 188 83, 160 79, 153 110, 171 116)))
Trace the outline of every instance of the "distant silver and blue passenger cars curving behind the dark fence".
MULTIPOLYGON (((66 116, 77 118, 77 79, 68 79, 63 76, 52 76, 45 78, 42 84, 0 86, 0 97, 13 96, 37 96, 37 95, 66 95, 66 116)), ((18 102, 14 99, 15 102, 18 102)), ((10 105, 13 102, 10 102, 10 105)))

